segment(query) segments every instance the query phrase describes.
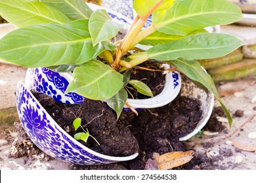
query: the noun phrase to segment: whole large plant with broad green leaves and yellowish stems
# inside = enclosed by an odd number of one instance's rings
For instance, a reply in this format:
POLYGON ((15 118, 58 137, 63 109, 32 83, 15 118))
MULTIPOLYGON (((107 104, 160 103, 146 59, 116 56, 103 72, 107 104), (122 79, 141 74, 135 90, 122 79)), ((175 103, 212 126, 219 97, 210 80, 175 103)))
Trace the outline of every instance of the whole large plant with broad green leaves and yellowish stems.
POLYGON ((106 100, 117 116, 128 96, 125 71, 156 59, 211 91, 231 125, 211 76, 195 60, 221 57, 245 44, 204 29, 240 20, 240 8, 224 0, 135 0, 133 8, 138 16, 127 35, 112 43, 122 26, 106 10, 93 12, 83 0, 0 0, 0 15, 20 27, 0 40, 0 59, 24 67, 73 71, 66 92, 106 100), (142 29, 151 14, 152 25, 142 29), (152 47, 138 51, 139 43, 152 47))

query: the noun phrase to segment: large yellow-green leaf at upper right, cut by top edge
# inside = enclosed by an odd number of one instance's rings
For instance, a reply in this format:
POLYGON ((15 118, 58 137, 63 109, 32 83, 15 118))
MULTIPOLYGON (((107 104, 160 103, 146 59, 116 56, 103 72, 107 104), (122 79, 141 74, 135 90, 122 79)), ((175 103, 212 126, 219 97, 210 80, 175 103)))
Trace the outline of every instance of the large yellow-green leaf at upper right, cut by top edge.
POLYGON ((241 10, 225 0, 175 1, 168 10, 153 14, 153 25, 160 32, 186 35, 213 25, 231 24, 242 18, 241 10))

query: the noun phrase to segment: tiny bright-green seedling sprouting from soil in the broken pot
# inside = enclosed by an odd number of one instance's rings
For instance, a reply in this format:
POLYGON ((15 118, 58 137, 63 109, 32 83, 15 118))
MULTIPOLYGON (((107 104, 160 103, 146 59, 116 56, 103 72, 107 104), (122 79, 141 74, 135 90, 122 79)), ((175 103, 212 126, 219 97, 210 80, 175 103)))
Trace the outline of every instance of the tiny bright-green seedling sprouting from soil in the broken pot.
MULTIPOLYGON (((75 127, 75 131, 81 127, 81 129, 83 129, 83 126, 81 125, 81 118, 76 118, 73 122, 73 125, 75 127)), ((84 132, 80 132, 80 133, 75 133, 74 135, 74 139, 75 140, 81 140, 81 141, 85 141, 87 142, 88 138, 89 137, 92 137, 96 142, 97 144, 100 146, 100 143, 95 139, 95 137, 93 137, 92 135, 90 135, 89 133, 89 130, 86 129, 87 131, 85 131, 85 129, 83 129, 84 132)))

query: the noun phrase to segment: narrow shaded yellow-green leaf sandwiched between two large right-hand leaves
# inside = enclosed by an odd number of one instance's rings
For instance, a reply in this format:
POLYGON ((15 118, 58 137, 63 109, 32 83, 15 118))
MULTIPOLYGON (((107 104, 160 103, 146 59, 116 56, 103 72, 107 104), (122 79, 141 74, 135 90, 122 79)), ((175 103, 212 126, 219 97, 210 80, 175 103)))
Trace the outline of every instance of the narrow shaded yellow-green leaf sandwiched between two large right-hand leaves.
POLYGON ((183 37, 187 37, 190 35, 196 35, 198 33, 207 33, 207 31, 205 29, 202 29, 200 31, 194 31, 188 35, 182 36, 182 35, 169 35, 169 34, 165 34, 165 33, 161 33, 159 31, 156 31, 154 33, 152 33, 151 35, 149 35, 148 37, 146 37, 146 39, 144 39, 142 42, 140 42, 140 44, 144 44, 144 45, 150 45, 150 46, 155 46, 158 44, 165 44, 168 42, 172 42, 175 41, 177 39, 182 39, 183 37))

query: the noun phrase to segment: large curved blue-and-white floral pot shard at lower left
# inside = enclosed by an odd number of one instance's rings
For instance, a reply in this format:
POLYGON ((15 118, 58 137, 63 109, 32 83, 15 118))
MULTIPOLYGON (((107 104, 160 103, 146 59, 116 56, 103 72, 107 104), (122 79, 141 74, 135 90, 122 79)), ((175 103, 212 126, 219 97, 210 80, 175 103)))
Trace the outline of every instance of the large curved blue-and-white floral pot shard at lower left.
POLYGON ((105 156, 90 150, 64 131, 33 97, 24 84, 18 84, 16 104, 20 122, 28 137, 43 152, 53 158, 80 165, 98 165, 127 161, 138 154, 128 157, 105 156))

